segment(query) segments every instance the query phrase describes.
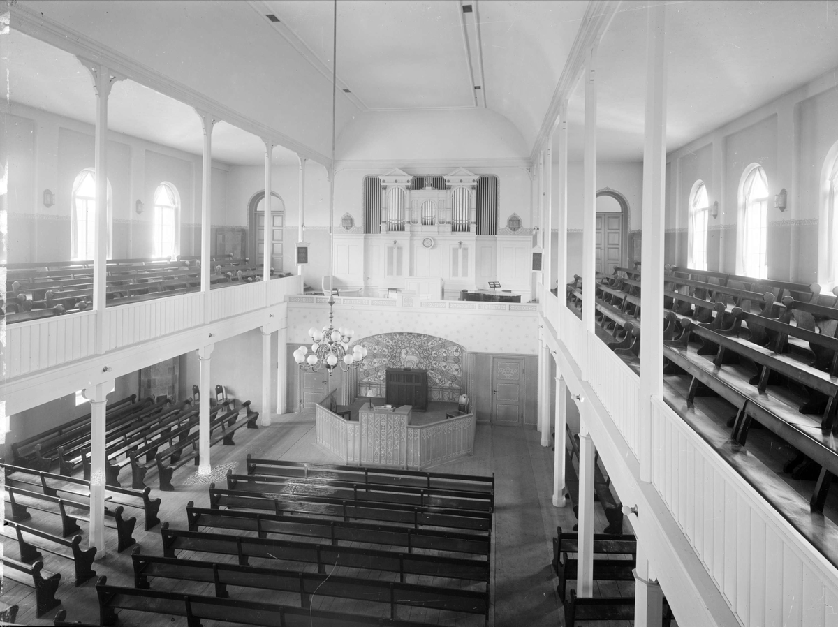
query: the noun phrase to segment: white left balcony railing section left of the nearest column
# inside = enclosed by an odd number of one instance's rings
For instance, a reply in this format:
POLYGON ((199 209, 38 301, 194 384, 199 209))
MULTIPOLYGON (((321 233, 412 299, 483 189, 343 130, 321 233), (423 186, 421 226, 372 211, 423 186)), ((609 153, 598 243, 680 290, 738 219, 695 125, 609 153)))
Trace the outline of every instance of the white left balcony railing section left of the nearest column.
POLYGON ((96 352, 96 312, 6 325, 6 376, 27 375, 96 352))

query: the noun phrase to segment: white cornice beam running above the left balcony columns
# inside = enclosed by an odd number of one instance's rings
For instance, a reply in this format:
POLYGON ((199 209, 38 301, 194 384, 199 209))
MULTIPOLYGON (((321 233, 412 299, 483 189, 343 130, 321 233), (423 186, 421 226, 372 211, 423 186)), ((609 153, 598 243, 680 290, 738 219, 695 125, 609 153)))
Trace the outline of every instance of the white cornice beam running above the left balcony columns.
POLYGON ((250 117, 241 115, 241 113, 230 109, 229 106, 208 98, 199 91, 182 85, 176 80, 160 74, 157 70, 152 70, 147 65, 143 65, 139 61, 131 59, 125 54, 111 49, 94 39, 90 39, 84 34, 73 29, 68 29, 41 13, 23 7, 20 4, 13 4, 9 9, 9 13, 11 28, 13 29, 18 29, 24 34, 28 34, 35 39, 65 50, 77 57, 83 57, 101 65, 106 65, 116 75, 134 80, 154 91, 159 91, 165 96, 170 96, 177 101, 183 102, 185 105, 192 106, 199 111, 205 111, 215 117, 216 120, 229 122, 241 128, 243 131, 253 133, 256 137, 270 137, 280 146, 288 148, 295 153, 302 154, 313 161, 322 163, 326 167, 331 163, 331 159, 326 155, 319 153, 313 148, 309 148, 301 142, 297 142, 296 139, 288 137, 285 133, 268 127, 261 122, 256 122, 256 120, 250 117))

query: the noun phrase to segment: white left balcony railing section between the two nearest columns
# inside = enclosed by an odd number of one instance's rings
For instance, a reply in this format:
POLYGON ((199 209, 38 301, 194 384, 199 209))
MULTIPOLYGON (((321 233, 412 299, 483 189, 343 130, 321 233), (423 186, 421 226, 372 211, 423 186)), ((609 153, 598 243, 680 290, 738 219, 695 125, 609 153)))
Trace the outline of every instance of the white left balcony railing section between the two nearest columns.
POLYGON ((200 292, 178 294, 109 307, 105 315, 107 350, 114 350, 204 324, 204 299, 200 292))

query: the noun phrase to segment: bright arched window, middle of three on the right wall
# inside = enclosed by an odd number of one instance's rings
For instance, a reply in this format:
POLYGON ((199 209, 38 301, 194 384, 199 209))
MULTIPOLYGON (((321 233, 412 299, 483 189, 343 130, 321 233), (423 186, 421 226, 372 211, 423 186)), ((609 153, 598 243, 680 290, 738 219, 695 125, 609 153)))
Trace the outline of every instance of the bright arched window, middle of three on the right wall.
POLYGON ((738 224, 740 274, 768 277, 766 240, 768 231, 768 179, 762 166, 754 163, 745 171, 739 189, 738 224))

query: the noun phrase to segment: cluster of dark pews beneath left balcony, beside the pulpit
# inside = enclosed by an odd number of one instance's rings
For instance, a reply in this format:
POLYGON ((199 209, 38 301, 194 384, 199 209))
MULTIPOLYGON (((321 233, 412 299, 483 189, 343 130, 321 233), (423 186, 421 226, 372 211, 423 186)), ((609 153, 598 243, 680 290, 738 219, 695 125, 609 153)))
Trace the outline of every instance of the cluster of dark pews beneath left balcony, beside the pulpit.
MULTIPOLYGON (((197 394, 197 386, 193 386, 197 394)), ((259 412, 251 402, 221 396, 210 399, 209 441, 214 446, 235 445, 235 432, 240 428, 258 428, 259 412)), ((105 413, 105 482, 113 488, 122 487, 119 479, 123 468, 131 471, 132 490, 144 490, 147 474, 156 470, 160 490, 174 490, 175 470, 189 462, 199 464, 199 404, 188 398, 174 403, 168 396, 137 399, 127 396, 106 406, 105 413)), ((12 443, 13 466, 49 473, 58 470, 69 477, 82 469, 85 480, 91 478, 91 414, 76 418, 58 427, 12 443)))

